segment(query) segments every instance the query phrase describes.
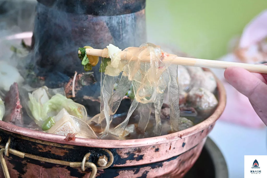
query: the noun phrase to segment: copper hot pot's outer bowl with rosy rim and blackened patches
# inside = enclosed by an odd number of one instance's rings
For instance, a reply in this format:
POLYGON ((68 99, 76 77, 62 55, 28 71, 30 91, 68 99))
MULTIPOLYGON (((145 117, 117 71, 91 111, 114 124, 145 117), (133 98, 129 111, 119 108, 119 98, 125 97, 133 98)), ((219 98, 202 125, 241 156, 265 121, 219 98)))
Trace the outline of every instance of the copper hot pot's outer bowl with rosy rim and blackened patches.
POLYGON ((209 118, 158 137, 65 141, 65 136, 0 121, 0 160, 5 174, 1 172, 0 177, 183 177, 199 157, 225 108, 225 89, 216 80, 219 103, 209 118), (100 167, 103 156, 107 164, 100 167))

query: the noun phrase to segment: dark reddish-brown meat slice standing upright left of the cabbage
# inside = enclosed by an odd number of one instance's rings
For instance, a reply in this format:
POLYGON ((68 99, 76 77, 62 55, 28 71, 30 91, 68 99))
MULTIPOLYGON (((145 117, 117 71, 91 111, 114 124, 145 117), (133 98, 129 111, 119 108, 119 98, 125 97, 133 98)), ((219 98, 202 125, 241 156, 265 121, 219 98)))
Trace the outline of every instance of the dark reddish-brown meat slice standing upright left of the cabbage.
POLYGON ((22 106, 20 104, 18 84, 16 82, 10 86, 9 92, 6 94, 5 107, 6 113, 3 121, 14 125, 23 125, 22 106))

